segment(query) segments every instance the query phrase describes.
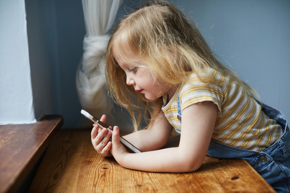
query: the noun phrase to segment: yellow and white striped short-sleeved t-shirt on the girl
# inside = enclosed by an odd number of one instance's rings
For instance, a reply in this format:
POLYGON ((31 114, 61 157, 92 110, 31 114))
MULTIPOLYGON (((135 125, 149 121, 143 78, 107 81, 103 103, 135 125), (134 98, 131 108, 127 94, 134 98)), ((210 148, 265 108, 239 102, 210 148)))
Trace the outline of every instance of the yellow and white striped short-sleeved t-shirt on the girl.
MULTIPOLYGON (((216 82, 229 82, 229 79, 212 70, 216 82)), ((209 78, 199 73, 203 79, 209 78)), ((218 106, 218 115, 214 125, 212 139, 221 143, 248 150, 261 151, 272 145, 283 134, 282 127, 270 119, 259 103, 247 96, 236 84, 203 83, 196 74, 192 74, 185 84, 181 84, 167 103, 167 94, 163 96, 162 110, 177 130, 181 123, 177 119, 177 100, 180 100, 181 112, 186 107, 212 101, 218 106)))

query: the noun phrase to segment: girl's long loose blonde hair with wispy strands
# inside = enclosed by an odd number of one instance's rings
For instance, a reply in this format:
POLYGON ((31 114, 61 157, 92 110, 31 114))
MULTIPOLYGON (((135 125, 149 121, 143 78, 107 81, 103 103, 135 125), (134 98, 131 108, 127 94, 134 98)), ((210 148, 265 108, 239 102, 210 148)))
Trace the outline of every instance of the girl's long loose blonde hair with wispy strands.
POLYGON ((201 71, 211 77, 211 80, 200 78, 201 81, 217 84, 211 75, 213 68, 247 95, 258 96, 250 85, 214 57, 197 27, 179 8, 166 1, 147 2, 120 19, 108 42, 106 55, 110 94, 130 113, 135 129, 140 125, 142 109, 145 109, 144 117, 147 115, 152 121, 161 110, 162 99, 147 100, 126 84, 125 73, 114 59, 114 50, 128 63, 138 66, 126 57, 126 51, 134 53, 147 64, 153 77, 169 85, 179 85, 187 81, 188 75, 201 71))

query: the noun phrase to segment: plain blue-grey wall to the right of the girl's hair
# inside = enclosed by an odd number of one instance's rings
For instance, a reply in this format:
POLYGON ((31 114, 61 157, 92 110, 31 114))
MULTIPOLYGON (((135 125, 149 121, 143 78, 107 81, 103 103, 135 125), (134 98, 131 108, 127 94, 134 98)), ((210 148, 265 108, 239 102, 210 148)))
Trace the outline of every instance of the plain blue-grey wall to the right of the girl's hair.
POLYGON ((290 1, 175 1, 217 56, 290 119, 290 1))

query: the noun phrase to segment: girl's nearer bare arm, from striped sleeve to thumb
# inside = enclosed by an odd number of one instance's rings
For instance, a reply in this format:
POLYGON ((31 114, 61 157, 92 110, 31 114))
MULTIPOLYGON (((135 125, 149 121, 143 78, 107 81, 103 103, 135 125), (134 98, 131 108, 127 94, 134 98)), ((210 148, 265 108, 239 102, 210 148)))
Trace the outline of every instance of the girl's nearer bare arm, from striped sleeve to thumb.
POLYGON ((128 153, 118 142, 118 127, 112 135, 112 155, 122 166, 151 172, 191 172, 203 163, 214 129, 218 107, 212 102, 193 104, 182 111, 179 147, 128 153))

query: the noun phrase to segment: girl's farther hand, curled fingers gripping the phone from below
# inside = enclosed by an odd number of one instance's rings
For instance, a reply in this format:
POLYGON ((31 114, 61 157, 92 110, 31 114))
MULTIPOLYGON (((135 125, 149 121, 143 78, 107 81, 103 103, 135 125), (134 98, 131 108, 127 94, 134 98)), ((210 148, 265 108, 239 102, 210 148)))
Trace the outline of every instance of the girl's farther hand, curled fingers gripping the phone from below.
MULTIPOLYGON (((100 119, 101 122, 106 122, 106 115, 103 115, 100 119)), ((107 128, 101 129, 97 124, 93 124, 93 129, 91 132, 91 140, 92 144, 95 148, 95 150, 98 152, 98 154, 109 157, 112 156, 110 153, 110 148, 112 146, 112 142, 109 141, 111 137, 111 132, 108 131, 107 128)), ((110 127, 112 128, 112 127, 110 127)))

